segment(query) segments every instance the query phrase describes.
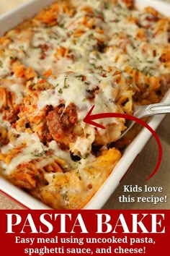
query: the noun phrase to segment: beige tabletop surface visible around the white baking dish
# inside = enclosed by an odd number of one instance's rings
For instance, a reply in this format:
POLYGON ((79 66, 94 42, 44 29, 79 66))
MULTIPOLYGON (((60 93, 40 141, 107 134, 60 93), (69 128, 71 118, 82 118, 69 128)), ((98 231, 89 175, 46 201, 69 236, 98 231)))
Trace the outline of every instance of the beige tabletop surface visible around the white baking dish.
MULTIPOLYGON (((0 0, 0 14, 26 1, 27 0, 0 0)), ((170 0, 166 1, 170 2, 170 0)), ((157 174, 148 182, 144 181, 153 171, 158 156, 156 142, 151 138, 143 152, 139 155, 137 161, 135 161, 132 168, 130 168, 125 179, 122 180, 120 186, 117 187, 112 197, 110 197, 104 205, 104 209, 170 209, 170 114, 162 121, 156 132, 163 148, 163 159, 157 174), (148 187, 162 187, 163 192, 156 192, 155 194, 152 192, 123 192, 123 186, 128 184, 138 185, 138 187, 144 187, 144 185, 148 185, 148 187), (151 202, 119 202, 119 197, 122 195, 125 195, 125 197, 135 197, 135 200, 137 197, 166 196, 167 202, 159 202, 157 205, 151 202)), ((0 209, 4 208, 17 209, 21 208, 21 206, 0 192, 0 209)))

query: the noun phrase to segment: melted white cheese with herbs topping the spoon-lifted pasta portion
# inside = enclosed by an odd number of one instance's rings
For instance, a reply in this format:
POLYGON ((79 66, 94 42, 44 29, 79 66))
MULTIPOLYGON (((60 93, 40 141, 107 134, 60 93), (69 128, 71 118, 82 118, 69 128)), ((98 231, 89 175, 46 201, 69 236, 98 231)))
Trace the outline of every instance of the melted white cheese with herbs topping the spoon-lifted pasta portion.
MULTIPOLYGON (((112 74, 108 74, 107 77, 102 77, 99 74, 90 74, 88 71, 58 74, 56 78, 50 78, 49 82, 53 85, 53 89, 43 90, 40 93, 37 101, 39 109, 47 105, 58 106, 62 98, 66 107, 69 103, 76 104, 79 120, 84 119, 84 116, 93 105, 96 106, 94 114, 117 111, 117 107, 113 102, 116 100, 115 91, 119 90, 119 88, 117 83, 114 83, 112 74), (86 77, 86 81, 82 81, 83 76, 86 77), (95 96, 94 101, 89 101, 88 98, 91 97, 90 91, 97 86, 101 88, 101 91, 95 96)), ((102 119, 99 122, 107 125, 110 119, 102 119)))

